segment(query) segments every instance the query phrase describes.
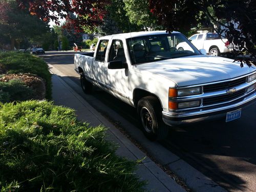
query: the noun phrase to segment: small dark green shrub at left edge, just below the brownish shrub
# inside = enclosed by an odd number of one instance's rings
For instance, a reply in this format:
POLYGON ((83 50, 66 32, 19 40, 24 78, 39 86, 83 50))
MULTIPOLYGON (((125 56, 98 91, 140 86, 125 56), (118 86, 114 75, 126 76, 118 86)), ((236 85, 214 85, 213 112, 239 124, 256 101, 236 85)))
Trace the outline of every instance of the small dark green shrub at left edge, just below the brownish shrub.
POLYGON ((21 80, 0 81, 0 102, 25 101, 32 99, 33 94, 32 88, 28 87, 21 80))

